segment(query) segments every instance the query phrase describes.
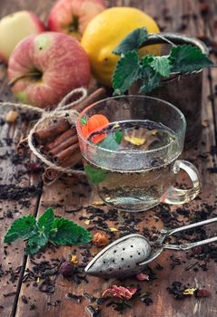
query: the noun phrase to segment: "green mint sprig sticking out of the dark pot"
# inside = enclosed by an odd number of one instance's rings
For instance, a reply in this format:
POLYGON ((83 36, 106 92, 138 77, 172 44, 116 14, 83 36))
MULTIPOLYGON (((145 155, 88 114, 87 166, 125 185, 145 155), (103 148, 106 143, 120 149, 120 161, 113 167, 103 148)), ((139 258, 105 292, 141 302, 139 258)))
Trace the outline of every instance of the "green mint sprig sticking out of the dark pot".
POLYGON ((168 78, 174 72, 195 72, 213 65, 198 47, 189 44, 173 46, 168 55, 146 55, 140 58, 138 49, 147 38, 144 28, 136 29, 113 51, 121 55, 113 72, 114 95, 123 94, 139 79, 142 82, 140 91, 150 92, 160 85, 162 77, 168 78))

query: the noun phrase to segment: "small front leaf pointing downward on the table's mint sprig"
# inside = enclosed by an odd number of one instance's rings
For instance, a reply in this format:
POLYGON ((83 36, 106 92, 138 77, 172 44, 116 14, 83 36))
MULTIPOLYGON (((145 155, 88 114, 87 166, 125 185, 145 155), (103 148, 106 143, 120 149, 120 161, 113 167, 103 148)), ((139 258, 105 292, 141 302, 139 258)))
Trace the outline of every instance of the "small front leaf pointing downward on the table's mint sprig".
POLYGON ((27 242, 27 245, 25 247, 25 254, 34 255, 47 243, 48 235, 40 233, 38 230, 35 230, 35 232, 33 232, 33 235, 29 238, 27 242))

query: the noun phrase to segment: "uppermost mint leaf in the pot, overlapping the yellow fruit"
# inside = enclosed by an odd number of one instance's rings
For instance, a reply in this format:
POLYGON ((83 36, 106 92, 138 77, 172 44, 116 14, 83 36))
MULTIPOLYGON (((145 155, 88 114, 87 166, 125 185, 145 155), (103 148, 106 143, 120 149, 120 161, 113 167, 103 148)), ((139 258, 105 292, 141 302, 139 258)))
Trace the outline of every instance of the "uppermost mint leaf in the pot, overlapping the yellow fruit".
POLYGON ((140 29, 133 30, 130 34, 124 37, 123 41, 118 44, 113 50, 114 54, 121 55, 129 51, 138 50, 142 47, 145 40, 148 38, 148 32, 143 27, 140 29))

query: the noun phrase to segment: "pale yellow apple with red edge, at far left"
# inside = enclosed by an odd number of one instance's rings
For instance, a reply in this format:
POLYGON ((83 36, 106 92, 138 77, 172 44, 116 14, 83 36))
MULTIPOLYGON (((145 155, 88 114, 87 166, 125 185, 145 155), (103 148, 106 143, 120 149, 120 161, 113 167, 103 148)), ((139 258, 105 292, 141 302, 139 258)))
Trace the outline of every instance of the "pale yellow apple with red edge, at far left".
POLYGON ((39 18, 29 11, 17 11, 0 20, 0 58, 7 63, 15 45, 30 34, 45 31, 39 18))

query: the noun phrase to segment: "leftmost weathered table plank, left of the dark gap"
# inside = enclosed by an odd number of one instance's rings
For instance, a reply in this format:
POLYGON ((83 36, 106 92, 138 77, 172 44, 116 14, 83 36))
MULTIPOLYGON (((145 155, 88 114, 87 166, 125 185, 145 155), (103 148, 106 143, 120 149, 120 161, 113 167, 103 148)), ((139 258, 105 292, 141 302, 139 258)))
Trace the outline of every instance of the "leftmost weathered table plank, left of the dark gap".
MULTIPOLYGON (((41 7, 43 1, 38 8, 41 7)), ((17 10, 29 9, 31 10, 30 2, 15 2, 15 1, 1 1, 0 2, 0 17, 5 14, 14 13, 17 10)), ((35 8, 36 12, 37 7, 35 8)), ((42 14, 43 15, 43 14, 42 14)), ((43 16, 42 16, 43 18, 43 16)), ((15 101, 6 81, 6 67, 0 65, 0 99, 1 101, 15 101)), ((1 109, 0 113, 5 118, 6 109, 1 109)), ((3 125, 0 127, 0 139, 3 142, 3 147, 0 148, 0 155, 4 156, 5 152, 11 153, 15 150, 15 143, 18 139, 23 137, 26 132, 26 122, 20 121, 16 125, 3 125), (6 145, 5 138, 11 138, 12 144, 6 145)), ((17 159, 15 159, 16 161, 17 159)), ((29 187, 36 185, 37 181, 32 178, 31 175, 26 173, 25 164, 28 164, 30 159, 21 160, 19 164, 14 164, 8 157, 7 159, 0 159, 1 167, 1 185, 15 184, 18 187, 29 187), (20 173, 20 178, 17 178, 20 173)), ((11 226, 12 222, 19 216, 25 216, 28 214, 35 214, 37 197, 24 197, 18 201, 16 200, 0 200, 0 258, 1 258, 1 269, 3 274, 0 277, 0 315, 13 316, 15 312, 18 292, 20 289, 21 280, 23 277, 23 268, 25 267, 26 257, 24 255, 24 243, 21 241, 15 242, 12 246, 7 247, 3 244, 3 237, 6 230, 11 226), (7 247, 7 248, 5 248, 7 247), (5 296, 6 294, 10 294, 5 296)))

